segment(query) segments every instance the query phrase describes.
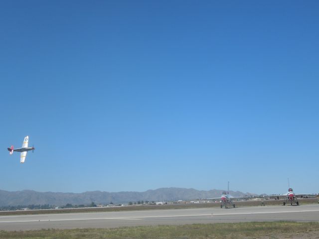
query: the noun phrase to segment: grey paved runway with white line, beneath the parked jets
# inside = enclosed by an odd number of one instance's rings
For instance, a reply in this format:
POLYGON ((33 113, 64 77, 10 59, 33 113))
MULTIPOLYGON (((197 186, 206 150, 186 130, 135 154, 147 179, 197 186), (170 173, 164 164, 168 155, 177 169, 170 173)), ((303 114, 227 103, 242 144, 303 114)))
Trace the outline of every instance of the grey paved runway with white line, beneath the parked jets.
POLYGON ((253 221, 319 222, 319 204, 1 216, 0 230, 117 228, 253 221))

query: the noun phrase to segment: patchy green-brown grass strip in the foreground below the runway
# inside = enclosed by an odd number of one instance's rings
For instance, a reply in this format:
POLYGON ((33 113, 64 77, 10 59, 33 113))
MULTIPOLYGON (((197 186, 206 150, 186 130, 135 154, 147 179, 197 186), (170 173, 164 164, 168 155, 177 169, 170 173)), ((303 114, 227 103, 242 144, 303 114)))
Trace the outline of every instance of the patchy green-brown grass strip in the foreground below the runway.
POLYGON ((115 229, 72 229, 0 231, 1 239, 280 239, 319 238, 319 223, 251 222, 192 224, 183 226, 143 226, 115 229))

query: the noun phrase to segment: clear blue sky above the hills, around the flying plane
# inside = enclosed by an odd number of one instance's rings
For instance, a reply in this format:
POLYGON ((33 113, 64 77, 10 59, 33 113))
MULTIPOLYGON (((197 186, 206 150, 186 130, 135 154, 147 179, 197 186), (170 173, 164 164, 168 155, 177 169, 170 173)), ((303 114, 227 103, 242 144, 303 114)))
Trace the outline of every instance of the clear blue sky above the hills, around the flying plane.
POLYGON ((319 192, 318 12, 2 0, 0 189, 319 192))

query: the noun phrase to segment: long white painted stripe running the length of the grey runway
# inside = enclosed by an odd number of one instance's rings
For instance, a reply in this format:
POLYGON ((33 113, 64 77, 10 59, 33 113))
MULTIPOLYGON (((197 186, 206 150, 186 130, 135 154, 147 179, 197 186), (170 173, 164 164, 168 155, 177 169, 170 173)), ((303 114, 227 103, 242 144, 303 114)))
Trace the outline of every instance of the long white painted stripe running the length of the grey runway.
POLYGON ((89 221, 89 220, 140 220, 143 218, 176 218, 176 217, 204 217, 204 216, 228 216, 228 215, 251 215, 251 214, 275 214, 275 213, 306 213, 319 212, 319 210, 283 211, 283 212, 251 212, 251 213, 223 213, 223 214, 196 214, 196 215, 172 215, 172 216, 143 216, 123 218, 82 218, 82 219, 47 219, 47 220, 25 220, 25 221, 2 221, 0 223, 28 223, 28 222, 60 222, 60 221, 89 221))

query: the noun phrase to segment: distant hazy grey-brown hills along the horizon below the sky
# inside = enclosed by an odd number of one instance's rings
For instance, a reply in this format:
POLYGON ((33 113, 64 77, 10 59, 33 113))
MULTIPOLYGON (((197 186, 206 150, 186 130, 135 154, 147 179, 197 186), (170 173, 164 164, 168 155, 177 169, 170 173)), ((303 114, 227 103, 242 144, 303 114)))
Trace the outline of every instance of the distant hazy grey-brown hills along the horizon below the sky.
MULTIPOLYGON (((225 190, 209 190, 198 191, 186 188, 159 188, 156 190, 148 190, 146 192, 84 192, 84 193, 54 193, 54 192, 36 192, 32 190, 23 190, 16 192, 8 192, 0 190, 0 207, 17 206, 17 205, 54 205, 63 206, 72 205, 88 205, 95 204, 120 204, 138 201, 177 201, 177 200, 196 200, 203 198, 220 197, 225 190)), ((245 196, 256 194, 242 193, 239 191, 230 191, 232 196, 245 196)))

